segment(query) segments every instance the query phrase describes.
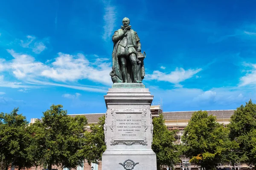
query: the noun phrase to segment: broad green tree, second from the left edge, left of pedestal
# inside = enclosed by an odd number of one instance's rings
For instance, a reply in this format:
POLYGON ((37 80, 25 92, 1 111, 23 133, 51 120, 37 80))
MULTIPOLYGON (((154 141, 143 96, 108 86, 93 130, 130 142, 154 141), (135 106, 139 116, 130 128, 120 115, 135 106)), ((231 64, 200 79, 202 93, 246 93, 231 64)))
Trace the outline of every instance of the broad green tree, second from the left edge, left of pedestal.
POLYGON ((41 121, 32 124, 33 137, 31 146, 33 156, 41 166, 52 165, 76 168, 82 166, 87 119, 85 116, 71 117, 62 105, 52 105, 44 112, 41 121))

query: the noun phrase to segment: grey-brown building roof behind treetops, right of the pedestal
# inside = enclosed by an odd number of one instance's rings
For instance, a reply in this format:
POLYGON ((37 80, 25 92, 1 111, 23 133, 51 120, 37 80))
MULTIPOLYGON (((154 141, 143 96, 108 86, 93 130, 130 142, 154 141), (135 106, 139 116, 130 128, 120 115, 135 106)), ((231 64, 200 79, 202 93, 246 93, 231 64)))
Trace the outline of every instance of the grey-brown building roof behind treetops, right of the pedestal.
MULTIPOLYGON (((216 116, 217 119, 230 119, 235 110, 217 110, 207 111, 208 115, 216 116)), ((166 120, 190 120, 195 111, 175 111, 163 112, 163 117, 166 120)))

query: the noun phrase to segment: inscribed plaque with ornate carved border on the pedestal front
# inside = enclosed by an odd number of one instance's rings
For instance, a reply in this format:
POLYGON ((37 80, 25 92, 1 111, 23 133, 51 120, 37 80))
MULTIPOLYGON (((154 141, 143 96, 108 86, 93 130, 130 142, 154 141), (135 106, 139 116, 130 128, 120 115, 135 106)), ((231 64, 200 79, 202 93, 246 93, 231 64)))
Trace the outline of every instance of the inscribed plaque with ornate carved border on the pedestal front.
POLYGON ((111 145, 123 143, 126 145, 147 145, 145 131, 148 126, 145 122, 146 110, 134 111, 130 108, 124 111, 112 109, 113 121, 111 123, 112 137, 111 145))

